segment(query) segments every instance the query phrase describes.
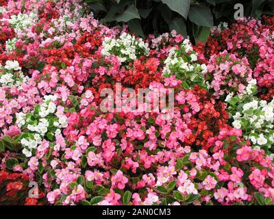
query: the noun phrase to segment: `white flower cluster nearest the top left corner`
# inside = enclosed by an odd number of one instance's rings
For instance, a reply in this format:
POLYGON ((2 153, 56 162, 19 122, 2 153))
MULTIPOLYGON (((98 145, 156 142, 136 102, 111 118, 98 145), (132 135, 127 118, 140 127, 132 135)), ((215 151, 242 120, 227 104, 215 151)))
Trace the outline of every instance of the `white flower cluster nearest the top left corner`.
POLYGON ((14 27, 14 31, 18 33, 19 31, 27 30, 37 19, 37 15, 34 12, 30 14, 17 14, 10 16, 10 19, 3 18, 2 21, 8 21, 11 27, 14 27))

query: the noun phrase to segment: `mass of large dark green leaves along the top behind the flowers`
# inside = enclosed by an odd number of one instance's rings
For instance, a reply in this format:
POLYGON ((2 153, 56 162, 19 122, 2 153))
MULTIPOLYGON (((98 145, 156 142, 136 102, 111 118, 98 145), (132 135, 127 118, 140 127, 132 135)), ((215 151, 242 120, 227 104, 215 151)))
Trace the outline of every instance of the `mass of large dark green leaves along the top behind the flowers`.
POLYGON ((175 29, 193 42, 206 42, 210 27, 234 23, 242 4, 242 16, 261 18, 273 14, 271 0, 84 0, 102 23, 127 23, 139 36, 162 34, 175 29), (236 8, 234 8, 236 5, 236 8))

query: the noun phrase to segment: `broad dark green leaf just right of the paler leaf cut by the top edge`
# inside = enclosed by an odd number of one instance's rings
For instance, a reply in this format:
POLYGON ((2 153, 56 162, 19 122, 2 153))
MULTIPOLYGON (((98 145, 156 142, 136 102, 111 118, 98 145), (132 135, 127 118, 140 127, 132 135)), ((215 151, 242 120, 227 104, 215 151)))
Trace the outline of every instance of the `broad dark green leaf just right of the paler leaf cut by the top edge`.
POLYGON ((213 26, 213 16, 210 8, 203 5, 192 5, 189 10, 188 18, 192 23, 195 23, 198 26, 213 26))

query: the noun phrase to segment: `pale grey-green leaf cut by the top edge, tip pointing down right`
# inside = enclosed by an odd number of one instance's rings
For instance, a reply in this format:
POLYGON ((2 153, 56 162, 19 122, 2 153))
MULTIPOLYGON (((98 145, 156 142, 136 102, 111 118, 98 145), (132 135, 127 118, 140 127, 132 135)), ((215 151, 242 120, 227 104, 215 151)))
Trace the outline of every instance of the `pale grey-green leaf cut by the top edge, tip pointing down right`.
POLYGON ((190 0, 162 0, 171 10, 181 14, 185 19, 188 17, 190 0))

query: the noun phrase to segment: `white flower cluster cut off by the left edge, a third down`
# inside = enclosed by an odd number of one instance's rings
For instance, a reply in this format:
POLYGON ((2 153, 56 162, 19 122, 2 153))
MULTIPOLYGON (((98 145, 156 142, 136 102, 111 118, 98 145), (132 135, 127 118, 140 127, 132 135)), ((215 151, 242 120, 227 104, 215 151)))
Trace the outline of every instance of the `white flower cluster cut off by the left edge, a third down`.
POLYGON ((5 66, 0 65, 0 86, 3 88, 12 88, 14 86, 21 89, 21 83, 27 82, 29 77, 25 77, 21 72, 21 67, 17 61, 8 60, 5 66), (14 73, 14 70, 17 72, 14 73))

